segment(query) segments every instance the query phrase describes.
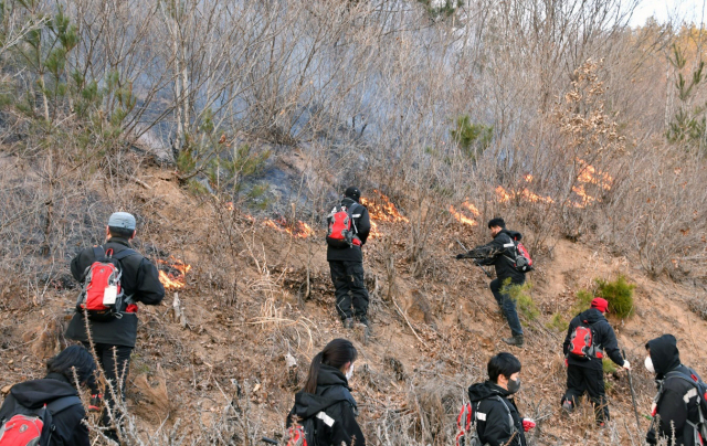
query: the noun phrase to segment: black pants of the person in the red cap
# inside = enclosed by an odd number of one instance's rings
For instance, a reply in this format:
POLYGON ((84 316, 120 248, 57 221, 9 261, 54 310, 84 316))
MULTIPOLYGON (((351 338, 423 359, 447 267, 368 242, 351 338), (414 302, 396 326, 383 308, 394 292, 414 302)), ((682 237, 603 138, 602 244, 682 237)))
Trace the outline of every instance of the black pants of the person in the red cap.
POLYGON ((609 405, 604 393, 604 371, 569 364, 567 367, 567 392, 562 396, 562 403, 569 400, 577 407, 579 399, 584 392, 589 394, 589 401, 594 405, 597 422, 609 421, 609 405))

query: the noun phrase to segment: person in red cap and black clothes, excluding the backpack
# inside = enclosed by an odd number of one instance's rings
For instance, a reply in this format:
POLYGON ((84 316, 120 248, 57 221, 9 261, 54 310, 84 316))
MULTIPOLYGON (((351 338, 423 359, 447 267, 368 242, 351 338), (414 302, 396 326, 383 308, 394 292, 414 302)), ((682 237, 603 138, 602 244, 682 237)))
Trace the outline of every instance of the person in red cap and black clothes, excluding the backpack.
POLYGON ((609 302, 601 297, 595 297, 588 310, 580 312, 570 321, 562 344, 562 351, 567 358, 567 392, 562 396, 562 410, 564 413, 571 413, 577 407, 579 399, 587 392, 594 405, 594 416, 599 426, 604 426, 605 421, 609 421, 602 367, 604 352, 619 367, 631 370, 629 361, 621 355, 614 329, 604 317, 608 309, 609 302), (585 357, 578 357, 571 352, 578 327, 585 327, 592 333, 592 348, 591 351, 587 351, 585 357))

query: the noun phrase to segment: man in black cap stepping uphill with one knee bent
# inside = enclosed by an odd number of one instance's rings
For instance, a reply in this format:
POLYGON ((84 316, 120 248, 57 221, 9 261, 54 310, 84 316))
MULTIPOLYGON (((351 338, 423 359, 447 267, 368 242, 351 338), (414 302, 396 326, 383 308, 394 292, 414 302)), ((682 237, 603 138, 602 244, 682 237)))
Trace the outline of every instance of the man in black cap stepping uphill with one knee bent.
POLYGON ((488 222, 488 229, 494 237, 490 243, 476 246, 468 253, 458 254, 456 258, 481 257, 479 265, 494 265, 496 278, 489 284, 490 291, 506 317, 511 333, 510 338, 504 338, 503 341, 510 346, 523 347, 525 339, 520 319, 518 319, 518 311, 516 310, 516 302, 507 293, 502 293, 504 286, 523 285, 526 282, 525 273, 517 270, 513 261, 515 249, 513 241, 520 241, 523 235, 519 232, 506 230, 504 219, 492 219, 488 222))

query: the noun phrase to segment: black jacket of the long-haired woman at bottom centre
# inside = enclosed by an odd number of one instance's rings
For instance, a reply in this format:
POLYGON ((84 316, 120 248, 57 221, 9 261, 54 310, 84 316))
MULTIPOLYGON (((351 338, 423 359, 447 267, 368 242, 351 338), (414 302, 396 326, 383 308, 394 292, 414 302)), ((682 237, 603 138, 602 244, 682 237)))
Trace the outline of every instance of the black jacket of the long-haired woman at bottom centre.
MULTIPOLYGON (((293 415, 303 421, 314 417, 317 446, 366 446, 363 433, 356 422, 358 408, 348 381, 340 370, 321 364, 317 379, 317 393, 298 392, 295 405, 287 415, 287 427, 293 415), (321 414, 321 415, 319 415, 321 414)), ((300 423, 302 424, 302 423, 300 423)))

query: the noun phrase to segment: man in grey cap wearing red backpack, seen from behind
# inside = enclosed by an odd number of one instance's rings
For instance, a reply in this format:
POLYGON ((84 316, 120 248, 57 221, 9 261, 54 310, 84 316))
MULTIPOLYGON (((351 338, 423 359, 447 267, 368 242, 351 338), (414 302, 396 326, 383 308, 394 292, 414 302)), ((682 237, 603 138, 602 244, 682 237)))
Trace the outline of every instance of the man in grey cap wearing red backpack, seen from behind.
MULTIPOLYGON (((137 339, 137 302, 159 305, 165 297, 155 264, 130 248, 135 234, 135 216, 116 212, 108 219, 103 246, 85 248, 71 262, 72 275, 82 284, 82 291, 66 337, 89 348, 86 314, 105 378, 113 385, 123 384, 116 389, 120 395, 137 339)), ((96 396, 101 394, 98 389, 94 391, 96 396)), ((105 403, 113 407, 110 392, 105 392, 105 403)), ((107 410, 103 413, 103 424, 112 425, 107 410)), ((115 429, 108 429, 106 435, 118 443, 115 429)))

